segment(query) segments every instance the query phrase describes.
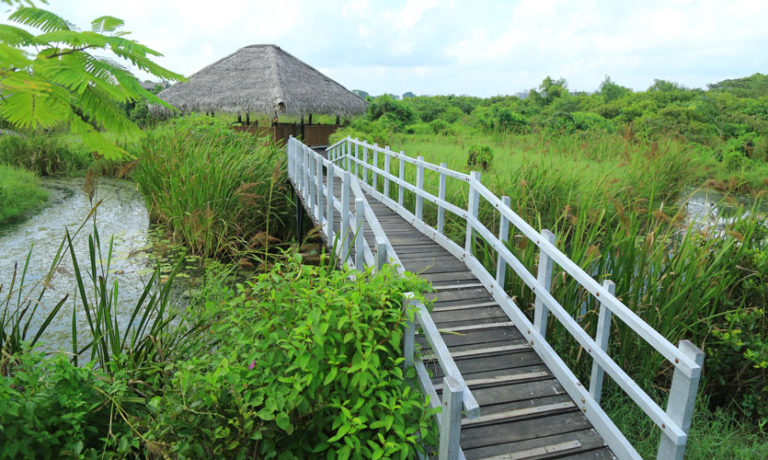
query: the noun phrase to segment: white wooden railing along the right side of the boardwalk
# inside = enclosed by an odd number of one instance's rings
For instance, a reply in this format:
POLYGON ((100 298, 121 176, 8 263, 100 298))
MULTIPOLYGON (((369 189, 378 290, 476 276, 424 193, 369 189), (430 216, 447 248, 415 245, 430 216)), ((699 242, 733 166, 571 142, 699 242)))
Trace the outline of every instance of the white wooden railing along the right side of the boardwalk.
MULTIPOLYGON (((403 152, 393 152, 389 147, 382 148, 376 144, 371 145, 349 137, 330 146, 327 156, 328 164, 344 168, 345 174, 350 174, 347 177, 359 184, 362 190, 387 205, 423 234, 466 263, 616 455, 620 458, 640 458, 635 448, 600 405, 603 378, 606 374, 661 430, 657 458, 663 460, 683 458, 704 361, 704 353, 701 350, 685 340, 676 347, 645 323, 614 296, 614 285, 611 281, 606 280, 600 284, 571 261, 555 247, 555 236, 551 232, 543 230, 539 233, 520 218, 509 207, 509 197, 499 198, 481 183, 479 172, 464 174, 448 169, 445 163, 438 166, 424 161, 422 157, 412 158, 403 152), (391 171, 393 163, 398 164, 397 175, 391 171), (407 165, 415 168, 415 184, 406 180, 407 165), (425 172, 439 175, 437 195, 424 189, 425 172), (448 179, 468 184, 466 209, 447 201, 446 181, 448 179), (396 199, 394 190, 390 190, 392 186, 397 187, 396 199), (413 209, 405 206, 405 191, 414 194, 413 209), (488 230, 478 219, 481 198, 500 214, 498 236, 488 230), (437 206, 434 226, 424 220, 425 201, 437 206), (466 222, 466 238, 463 247, 445 235, 446 211, 466 222), (526 269, 506 244, 510 225, 539 248, 536 276, 526 269), (473 239, 476 236, 485 240, 493 249, 497 258, 496 273, 489 273, 473 254, 473 239), (550 294, 554 264, 559 265, 562 272, 575 280, 599 302, 600 312, 595 337, 591 337, 550 294), (533 322, 525 316, 504 290, 503 282, 508 267, 535 293, 533 322), (562 358, 547 343, 547 322, 550 313, 592 357, 593 365, 588 387, 581 384, 562 358), (666 410, 648 396, 608 354, 612 318, 627 325, 674 367, 666 410)), ((389 250, 390 247, 388 246, 387 249, 389 250)), ((449 386, 446 385, 444 388, 449 386)))

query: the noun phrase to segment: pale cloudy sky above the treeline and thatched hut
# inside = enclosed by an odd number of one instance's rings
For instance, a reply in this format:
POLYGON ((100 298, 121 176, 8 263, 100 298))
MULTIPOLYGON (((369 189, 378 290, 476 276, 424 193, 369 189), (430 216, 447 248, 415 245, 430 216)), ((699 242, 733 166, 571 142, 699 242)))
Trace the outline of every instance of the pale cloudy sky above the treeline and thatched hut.
MULTIPOLYGON (((371 94, 514 94, 546 76, 644 90, 768 73, 765 0, 49 0, 82 29, 109 14, 184 75, 273 43, 371 94)), ((7 9, 5 5, 2 7, 7 9)))

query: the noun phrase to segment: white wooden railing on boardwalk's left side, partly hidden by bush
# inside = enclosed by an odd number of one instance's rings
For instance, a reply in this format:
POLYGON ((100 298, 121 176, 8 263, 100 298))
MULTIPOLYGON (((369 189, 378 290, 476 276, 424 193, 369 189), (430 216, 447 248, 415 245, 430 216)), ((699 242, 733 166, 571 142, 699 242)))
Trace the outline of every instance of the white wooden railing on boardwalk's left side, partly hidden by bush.
MULTIPOLYGON (((343 170, 336 164, 337 161, 323 158, 294 137, 288 140, 287 156, 288 177, 293 183, 297 197, 308 210, 315 225, 322 229, 329 246, 336 251, 335 256, 341 261, 341 265, 355 267, 359 271, 373 266, 378 271, 385 263, 389 263, 403 274, 404 270, 397 253, 368 205, 360 182, 351 175, 350 171, 343 170), (336 180, 341 180, 340 197, 334 194, 336 180), (353 198, 354 209, 350 207, 353 198), (334 218, 334 213, 337 212, 340 213, 338 225, 335 224, 334 218), (366 227, 369 227, 374 234, 376 241, 374 251, 365 241, 366 227), (354 247, 354 257, 351 256, 350 246, 354 247)), ((407 366, 416 368, 419 384, 424 393, 430 396, 430 405, 435 408, 440 407, 442 403, 443 409, 436 416, 440 429, 438 456, 441 460, 464 459, 464 453, 459 445, 462 409, 468 418, 475 418, 480 415, 480 407, 461 376, 424 303, 416 299, 413 293, 406 293, 404 304, 408 311, 414 313, 413 320, 407 323, 403 340, 405 363, 407 366), (424 363, 415 359, 417 329, 423 331, 443 371, 442 398, 438 397, 424 363)))

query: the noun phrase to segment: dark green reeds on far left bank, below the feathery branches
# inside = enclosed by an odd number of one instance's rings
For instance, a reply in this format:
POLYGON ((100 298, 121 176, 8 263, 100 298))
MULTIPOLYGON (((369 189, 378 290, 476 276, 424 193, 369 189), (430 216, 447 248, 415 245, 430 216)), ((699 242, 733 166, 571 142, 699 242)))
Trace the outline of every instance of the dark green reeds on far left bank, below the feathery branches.
POLYGON ((24 168, 39 176, 72 173, 88 167, 93 157, 59 138, 35 134, 0 137, 0 163, 24 168))

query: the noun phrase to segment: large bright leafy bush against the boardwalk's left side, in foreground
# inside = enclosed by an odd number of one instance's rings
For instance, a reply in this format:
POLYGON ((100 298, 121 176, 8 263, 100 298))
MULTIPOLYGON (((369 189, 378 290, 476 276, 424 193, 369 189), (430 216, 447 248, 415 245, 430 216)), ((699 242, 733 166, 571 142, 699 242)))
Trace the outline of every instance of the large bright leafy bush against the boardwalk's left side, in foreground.
POLYGON ((349 276, 292 260, 207 304, 149 436, 182 457, 414 458, 434 428, 402 369, 402 295, 423 286, 349 276))

